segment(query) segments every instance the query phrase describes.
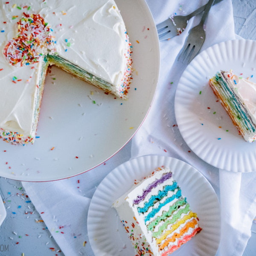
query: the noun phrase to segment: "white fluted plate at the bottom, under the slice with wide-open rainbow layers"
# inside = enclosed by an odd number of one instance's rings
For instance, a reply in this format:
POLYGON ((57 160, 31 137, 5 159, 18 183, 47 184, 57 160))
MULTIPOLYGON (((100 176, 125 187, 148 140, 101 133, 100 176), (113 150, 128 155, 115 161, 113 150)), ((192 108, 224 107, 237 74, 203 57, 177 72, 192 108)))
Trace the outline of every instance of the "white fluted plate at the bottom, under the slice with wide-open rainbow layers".
POLYGON ((134 248, 122 227, 113 202, 159 166, 169 166, 182 195, 198 214, 201 233, 172 255, 215 256, 220 241, 220 208, 214 189, 196 169, 172 157, 149 155, 123 163, 108 174, 93 195, 87 219, 95 256, 132 256, 134 248), (124 247, 126 247, 124 249, 124 247))

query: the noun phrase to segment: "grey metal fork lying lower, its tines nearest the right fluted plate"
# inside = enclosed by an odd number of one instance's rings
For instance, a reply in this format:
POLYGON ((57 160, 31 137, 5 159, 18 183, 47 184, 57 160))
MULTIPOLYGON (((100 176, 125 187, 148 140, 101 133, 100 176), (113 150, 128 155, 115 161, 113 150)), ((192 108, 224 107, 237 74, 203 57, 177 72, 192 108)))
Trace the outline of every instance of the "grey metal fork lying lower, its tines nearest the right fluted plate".
POLYGON ((203 46, 205 40, 204 22, 208 16, 209 10, 211 9, 213 2, 214 0, 209 0, 200 23, 190 29, 189 35, 186 39, 186 43, 180 51, 178 61, 189 64, 189 62, 192 61, 193 58, 195 58, 195 56, 198 54, 201 47, 203 46))

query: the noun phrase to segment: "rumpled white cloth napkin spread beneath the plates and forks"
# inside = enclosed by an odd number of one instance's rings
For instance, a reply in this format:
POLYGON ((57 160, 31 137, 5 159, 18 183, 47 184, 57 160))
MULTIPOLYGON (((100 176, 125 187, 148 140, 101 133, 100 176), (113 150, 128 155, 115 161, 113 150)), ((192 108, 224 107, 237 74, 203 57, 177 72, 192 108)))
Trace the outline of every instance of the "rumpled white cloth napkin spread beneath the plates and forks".
MULTIPOLYGON (((169 15, 186 15, 204 5, 207 0, 147 0, 154 20, 160 23, 169 15)), ((221 201, 220 256, 241 256, 250 237, 250 227, 256 215, 256 173, 232 173, 218 170, 199 159, 183 141, 175 121, 174 99, 177 82, 183 72, 176 57, 186 35, 200 17, 192 18, 187 29, 169 41, 160 42, 160 79, 154 103, 140 130, 118 154, 93 171, 67 180, 48 183, 24 183, 27 194, 41 214, 52 236, 66 256, 93 252, 88 244, 87 211, 90 198, 108 172, 129 157, 161 154, 177 157, 198 169, 212 184, 221 201), (164 102, 164 104, 163 104, 164 102), (79 180, 79 183, 78 183, 79 180), (77 188, 79 186, 79 188, 77 188), (59 229, 59 227, 62 227, 59 229), (63 234, 55 231, 63 231, 63 234), (70 239, 70 234, 76 236, 70 239), (83 247, 84 241, 87 241, 83 247)), ((202 48, 235 38, 231 0, 212 6, 206 23, 206 41, 202 48)))

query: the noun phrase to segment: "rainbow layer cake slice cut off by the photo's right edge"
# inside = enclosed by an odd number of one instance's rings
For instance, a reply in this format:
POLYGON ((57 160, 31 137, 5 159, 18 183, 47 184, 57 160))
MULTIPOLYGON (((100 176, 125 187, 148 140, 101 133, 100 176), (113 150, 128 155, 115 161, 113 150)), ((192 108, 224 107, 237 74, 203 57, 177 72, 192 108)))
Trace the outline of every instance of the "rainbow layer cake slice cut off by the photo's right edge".
POLYGON ((218 72, 209 85, 244 140, 256 139, 256 84, 227 71, 218 72))

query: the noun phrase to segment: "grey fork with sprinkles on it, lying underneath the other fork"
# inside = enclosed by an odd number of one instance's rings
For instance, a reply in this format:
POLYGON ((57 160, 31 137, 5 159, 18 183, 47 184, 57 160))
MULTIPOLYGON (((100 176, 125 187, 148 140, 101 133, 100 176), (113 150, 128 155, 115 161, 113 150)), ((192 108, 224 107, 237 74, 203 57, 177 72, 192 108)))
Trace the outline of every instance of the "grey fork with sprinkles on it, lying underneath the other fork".
MULTIPOLYGON (((213 4, 219 3, 222 0, 215 0, 213 4)), ((165 39, 170 39, 175 35, 180 35, 186 28, 188 21, 198 15, 199 13, 203 12, 206 8, 207 4, 198 8, 194 12, 190 13, 187 16, 171 16, 167 20, 163 21, 162 23, 157 25, 157 34, 160 41, 165 39)))

